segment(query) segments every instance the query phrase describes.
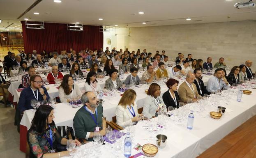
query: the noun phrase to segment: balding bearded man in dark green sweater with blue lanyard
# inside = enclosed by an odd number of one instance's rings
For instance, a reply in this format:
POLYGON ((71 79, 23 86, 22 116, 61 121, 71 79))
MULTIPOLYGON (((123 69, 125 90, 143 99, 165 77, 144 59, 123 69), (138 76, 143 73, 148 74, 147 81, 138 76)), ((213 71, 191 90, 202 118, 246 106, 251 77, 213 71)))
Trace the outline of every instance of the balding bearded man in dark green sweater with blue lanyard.
POLYGON ((106 133, 106 120, 103 118, 103 107, 93 92, 85 92, 81 97, 83 106, 73 119, 76 136, 79 139, 93 141, 95 131, 101 135, 106 133))

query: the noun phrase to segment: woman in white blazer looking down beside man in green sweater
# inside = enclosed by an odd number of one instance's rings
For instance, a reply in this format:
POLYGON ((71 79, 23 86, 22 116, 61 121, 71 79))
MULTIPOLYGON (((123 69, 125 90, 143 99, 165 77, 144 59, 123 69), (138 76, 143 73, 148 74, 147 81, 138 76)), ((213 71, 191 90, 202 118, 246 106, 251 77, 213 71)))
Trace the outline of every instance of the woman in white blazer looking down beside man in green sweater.
POLYGON ((138 114, 136 104, 136 92, 133 89, 128 89, 122 95, 118 106, 115 109, 116 123, 125 128, 136 124, 141 120, 142 114, 138 114))

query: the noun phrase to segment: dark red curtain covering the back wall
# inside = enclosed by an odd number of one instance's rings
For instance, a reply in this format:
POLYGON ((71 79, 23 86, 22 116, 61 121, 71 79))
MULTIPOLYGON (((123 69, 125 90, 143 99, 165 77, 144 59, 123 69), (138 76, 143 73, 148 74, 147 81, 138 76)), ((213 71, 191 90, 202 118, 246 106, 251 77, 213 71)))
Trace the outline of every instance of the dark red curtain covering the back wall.
POLYGON ((73 48, 76 52, 89 49, 103 48, 103 32, 100 32, 101 26, 83 25, 83 31, 67 30, 67 24, 44 23, 44 29, 26 29, 25 21, 21 21, 23 30, 23 42, 25 53, 32 53, 37 50, 49 51, 61 50, 69 51, 73 48))

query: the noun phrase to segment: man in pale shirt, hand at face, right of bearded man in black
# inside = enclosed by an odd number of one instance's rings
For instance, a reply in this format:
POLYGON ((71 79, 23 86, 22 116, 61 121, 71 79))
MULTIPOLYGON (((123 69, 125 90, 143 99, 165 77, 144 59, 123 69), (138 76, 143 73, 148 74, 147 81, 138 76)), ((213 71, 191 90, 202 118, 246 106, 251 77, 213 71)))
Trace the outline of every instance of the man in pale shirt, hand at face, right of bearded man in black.
POLYGON ((214 71, 214 76, 208 80, 208 85, 206 87, 208 92, 214 93, 223 87, 229 87, 227 79, 224 76, 223 70, 216 69, 214 71))

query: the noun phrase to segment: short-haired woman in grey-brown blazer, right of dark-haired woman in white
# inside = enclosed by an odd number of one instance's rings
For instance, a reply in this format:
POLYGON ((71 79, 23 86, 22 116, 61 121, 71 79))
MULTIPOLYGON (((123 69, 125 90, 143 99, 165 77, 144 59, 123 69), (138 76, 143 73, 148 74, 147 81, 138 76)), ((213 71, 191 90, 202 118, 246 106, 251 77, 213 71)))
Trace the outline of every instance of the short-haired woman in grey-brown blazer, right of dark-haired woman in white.
POLYGON ((121 80, 118 78, 118 70, 117 69, 112 69, 111 72, 109 73, 109 77, 105 81, 105 86, 106 89, 120 89, 122 86, 121 80))

